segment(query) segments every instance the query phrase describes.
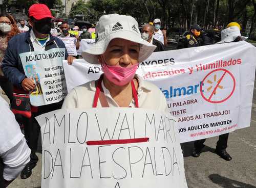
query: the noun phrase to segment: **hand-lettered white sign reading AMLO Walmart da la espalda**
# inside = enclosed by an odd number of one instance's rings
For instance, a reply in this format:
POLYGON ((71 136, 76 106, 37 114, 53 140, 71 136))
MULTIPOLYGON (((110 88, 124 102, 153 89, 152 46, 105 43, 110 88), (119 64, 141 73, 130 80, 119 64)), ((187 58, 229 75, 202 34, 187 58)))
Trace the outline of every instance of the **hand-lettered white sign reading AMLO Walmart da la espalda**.
POLYGON ((53 111, 36 117, 42 188, 186 188, 176 119, 136 108, 53 111))

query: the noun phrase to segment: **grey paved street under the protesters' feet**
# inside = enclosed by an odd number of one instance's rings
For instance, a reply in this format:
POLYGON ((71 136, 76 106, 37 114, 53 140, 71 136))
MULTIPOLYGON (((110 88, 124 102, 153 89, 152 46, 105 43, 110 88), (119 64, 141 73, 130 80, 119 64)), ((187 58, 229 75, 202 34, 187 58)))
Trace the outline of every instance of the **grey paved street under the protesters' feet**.
MULTIPOLYGON (((251 126, 229 134, 227 151, 233 157, 230 162, 221 159, 215 152, 218 138, 210 138, 200 157, 190 156, 193 143, 182 144, 185 173, 189 188, 256 188, 256 88, 253 94, 251 126)), ((0 91, 2 94, 2 91, 0 91)), ((2 95, 3 96, 3 95, 2 95)), ((6 98, 6 96, 4 95, 6 98)), ((38 165, 33 175, 22 180, 17 178, 10 188, 40 187, 41 148, 38 148, 38 165)), ((171 186, 170 186, 171 187, 171 186)), ((137 188, 137 187, 136 187, 137 188)), ((177 187, 174 187, 177 188, 177 187)))

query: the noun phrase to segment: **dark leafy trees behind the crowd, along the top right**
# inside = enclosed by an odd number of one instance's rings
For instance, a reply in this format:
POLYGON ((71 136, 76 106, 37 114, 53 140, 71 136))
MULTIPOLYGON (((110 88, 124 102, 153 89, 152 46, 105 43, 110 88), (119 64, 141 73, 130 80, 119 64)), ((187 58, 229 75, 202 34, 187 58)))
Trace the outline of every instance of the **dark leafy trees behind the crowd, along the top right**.
POLYGON ((90 0, 87 6, 94 9, 98 17, 125 14, 135 17, 139 23, 160 18, 167 29, 189 29, 194 23, 225 26, 237 21, 245 30, 249 22, 252 33, 256 24, 255 3, 255 0, 209 0, 209 3, 208 0, 90 0))

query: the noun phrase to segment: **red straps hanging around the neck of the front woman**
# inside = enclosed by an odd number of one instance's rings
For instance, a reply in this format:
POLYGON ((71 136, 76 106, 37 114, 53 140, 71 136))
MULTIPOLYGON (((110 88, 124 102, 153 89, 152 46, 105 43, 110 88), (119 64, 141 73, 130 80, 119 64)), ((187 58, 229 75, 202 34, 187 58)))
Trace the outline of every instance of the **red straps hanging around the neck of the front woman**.
MULTIPOLYGON (((95 92, 94 100, 93 100, 93 108, 97 107, 98 99, 100 100, 102 107, 109 107, 108 101, 106 101, 106 96, 105 96, 104 91, 101 86, 101 82, 102 82, 102 77, 99 78, 99 81, 98 81, 98 84, 96 87, 96 92, 95 92)), ((138 95, 137 95, 137 91, 135 89, 133 80, 132 80, 131 84, 132 84, 132 92, 133 92, 133 98, 135 101, 135 106, 136 106, 136 108, 139 108, 138 95)))

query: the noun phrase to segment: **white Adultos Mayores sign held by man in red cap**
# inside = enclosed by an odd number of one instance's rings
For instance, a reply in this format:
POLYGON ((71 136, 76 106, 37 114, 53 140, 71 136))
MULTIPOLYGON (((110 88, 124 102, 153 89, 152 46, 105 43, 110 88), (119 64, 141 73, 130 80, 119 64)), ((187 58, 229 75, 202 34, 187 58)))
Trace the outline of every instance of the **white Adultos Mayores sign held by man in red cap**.
POLYGON ((61 101, 67 95, 67 86, 62 66, 65 48, 20 53, 23 69, 32 78, 36 87, 30 93, 33 106, 61 101))

